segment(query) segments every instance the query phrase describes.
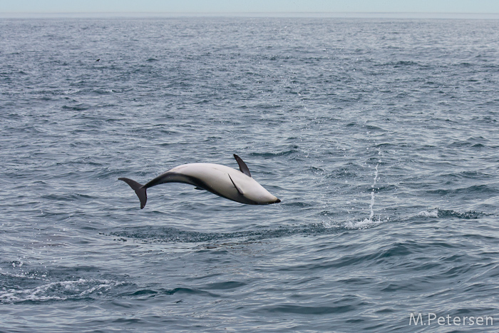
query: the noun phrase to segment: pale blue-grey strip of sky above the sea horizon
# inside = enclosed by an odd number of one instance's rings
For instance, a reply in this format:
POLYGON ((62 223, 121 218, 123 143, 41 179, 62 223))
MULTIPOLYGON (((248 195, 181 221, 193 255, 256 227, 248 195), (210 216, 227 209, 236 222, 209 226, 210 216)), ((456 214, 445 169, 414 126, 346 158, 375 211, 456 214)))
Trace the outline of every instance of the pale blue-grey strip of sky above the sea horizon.
POLYGON ((499 14, 499 0, 0 0, 1 14, 302 12, 499 14))

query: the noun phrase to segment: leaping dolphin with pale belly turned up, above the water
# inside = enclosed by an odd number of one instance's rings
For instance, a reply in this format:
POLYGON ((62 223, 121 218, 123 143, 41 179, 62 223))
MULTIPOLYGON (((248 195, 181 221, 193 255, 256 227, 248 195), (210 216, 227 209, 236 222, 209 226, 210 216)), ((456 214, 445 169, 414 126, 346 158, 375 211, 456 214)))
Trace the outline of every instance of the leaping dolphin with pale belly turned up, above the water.
POLYGON ((281 202, 251 177, 246 163, 239 156, 234 154, 234 158, 240 170, 220 164, 190 163, 170 169, 145 185, 129 178, 118 178, 118 180, 123 180, 135 190, 140 200, 140 209, 143 209, 148 201, 145 190, 163 183, 194 185, 197 190, 207 190, 222 198, 247 205, 269 205, 281 202))

